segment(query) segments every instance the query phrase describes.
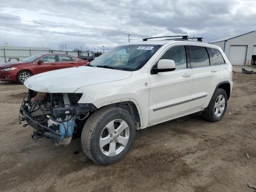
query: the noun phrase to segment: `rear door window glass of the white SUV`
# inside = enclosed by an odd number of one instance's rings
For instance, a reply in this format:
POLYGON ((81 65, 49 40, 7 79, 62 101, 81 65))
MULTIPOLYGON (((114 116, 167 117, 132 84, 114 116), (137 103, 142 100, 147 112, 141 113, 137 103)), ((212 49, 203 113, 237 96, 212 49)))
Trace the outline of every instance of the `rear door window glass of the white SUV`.
POLYGON ((189 46, 191 51, 191 67, 210 66, 210 60, 205 47, 189 46))

